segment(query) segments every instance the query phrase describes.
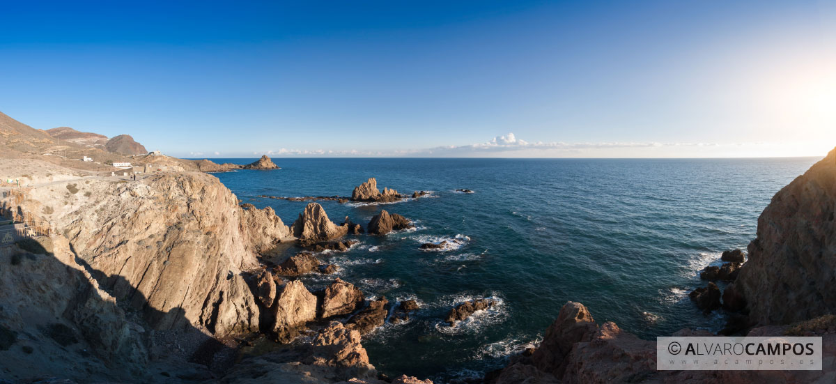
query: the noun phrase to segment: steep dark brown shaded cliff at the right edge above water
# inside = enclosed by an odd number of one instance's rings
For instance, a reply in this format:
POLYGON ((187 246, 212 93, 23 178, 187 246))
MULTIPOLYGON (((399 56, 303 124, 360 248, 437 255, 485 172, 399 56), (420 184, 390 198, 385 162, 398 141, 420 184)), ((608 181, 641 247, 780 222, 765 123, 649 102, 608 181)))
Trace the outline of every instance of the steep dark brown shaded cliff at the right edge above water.
POLYGON ((788 324, 833 313, 834 215, 836 150, 777 192, 757 219, 757 238, 735 282, 752 320, 788 324))

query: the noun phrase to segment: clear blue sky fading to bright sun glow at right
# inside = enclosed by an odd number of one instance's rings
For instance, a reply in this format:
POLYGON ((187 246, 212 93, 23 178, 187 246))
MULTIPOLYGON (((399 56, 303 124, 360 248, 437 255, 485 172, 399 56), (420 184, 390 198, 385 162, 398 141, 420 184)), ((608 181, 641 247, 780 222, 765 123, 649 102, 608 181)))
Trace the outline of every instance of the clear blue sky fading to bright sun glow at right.
POLYGON ((819 156, 836 2, 14 2, 0 110, 175 156, 819 156))

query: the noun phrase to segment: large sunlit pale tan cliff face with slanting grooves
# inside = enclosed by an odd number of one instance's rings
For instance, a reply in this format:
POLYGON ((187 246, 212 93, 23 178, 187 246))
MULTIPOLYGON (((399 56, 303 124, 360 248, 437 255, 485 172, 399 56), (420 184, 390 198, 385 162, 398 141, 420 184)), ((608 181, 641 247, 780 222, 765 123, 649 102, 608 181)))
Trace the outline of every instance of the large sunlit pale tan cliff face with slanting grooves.
POLYGON ((245 271, 257 269, 237 198, 204 173, 158 173, 137 182, 33 187, 24 212, 49 212, 78 258, 116 300, 156 330, 196 325, 214 335, 257 331, 245 271), (65 202, 60 206, 54 202, 65 202), (47 209, 47 207, 49 209, 47 209))

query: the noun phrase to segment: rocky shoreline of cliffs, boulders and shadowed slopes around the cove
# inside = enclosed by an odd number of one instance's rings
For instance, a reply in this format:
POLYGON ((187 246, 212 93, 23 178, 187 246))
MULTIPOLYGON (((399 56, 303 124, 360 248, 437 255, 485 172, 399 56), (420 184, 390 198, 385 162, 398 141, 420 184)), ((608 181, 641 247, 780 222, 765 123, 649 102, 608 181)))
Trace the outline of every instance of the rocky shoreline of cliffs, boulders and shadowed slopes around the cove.
MULTIPOLYGON (((276 169, 263 160, 248 169, 276 169)), ((351 248, 347 235, 404 230, 413 225, 408 218, 381 210, 365 227, 349 218, 337 224, 319 203, 301 200, 307 206, 285 225, 272 208, 241 204, 217 178, 196 172, 90 180, 80 191, 32 187, 0 201, 21 218, 53 223, 56 233, 0 252, 0 356, 13 362, 3 372, 10 382, 37 380, 32 371, 65 382, 431 382, 380 376, 362 346, 375 328, 421 311, 415 301, 367 299, 339 278, 311 291, 298 279, 333 274, 337 267, 316 253, 351 248), (265 262, 262 255, 283 243, 307 250, 265 262), (34 318, 47 320, 32 320, 33 308, 34 318), (236 362, 254 335, 288 348, 236 362), (68 357, 48 358, 57 354, 68 357)), ((380 192, 370 178, 347 201, 405 198, 380 192)), ((721 256, 725 264, 703 269, 706 287, 690 296, 706 313, 729 314, 721 334, 823 335, 834 346, 833 207, 836 151, 773 197, 748 258, 731 250, 721 256)), ((421 244, 438 247, 444 244, 421 244)), ((495 304, 460 303, 445 321, 456 326, 495 304)), ((584 305, 568 302, 538 347, 512 356, 484 382, 832 382, 836 351, 828 348, 824 371, 656 371, 655 342, 612 322, 599 325, 584 305)))

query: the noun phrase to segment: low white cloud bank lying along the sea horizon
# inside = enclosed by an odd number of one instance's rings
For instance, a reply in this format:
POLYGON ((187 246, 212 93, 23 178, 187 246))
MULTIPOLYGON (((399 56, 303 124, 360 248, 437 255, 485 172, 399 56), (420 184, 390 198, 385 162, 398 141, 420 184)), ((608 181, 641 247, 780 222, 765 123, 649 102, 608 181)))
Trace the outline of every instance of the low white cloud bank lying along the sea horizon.
MULTIPOLYGON (((836 143, 833 143, 836 145, 836 143)), ((466 145, 435 146, 423 149, 371 151, 371 150, 326 150, 279 148, 268 151, 189 152, 188 156, 212 157, 604 157, 604 158, 645 158, 645 157, 770 157, 770 156, 816 156, 825 155, 831 147, 823 143, 809 142, 543 142, 525 141, 512 132, 495 136, 489 141, 466 145), (812 154, 812 155, 811 155, 812 154)))

